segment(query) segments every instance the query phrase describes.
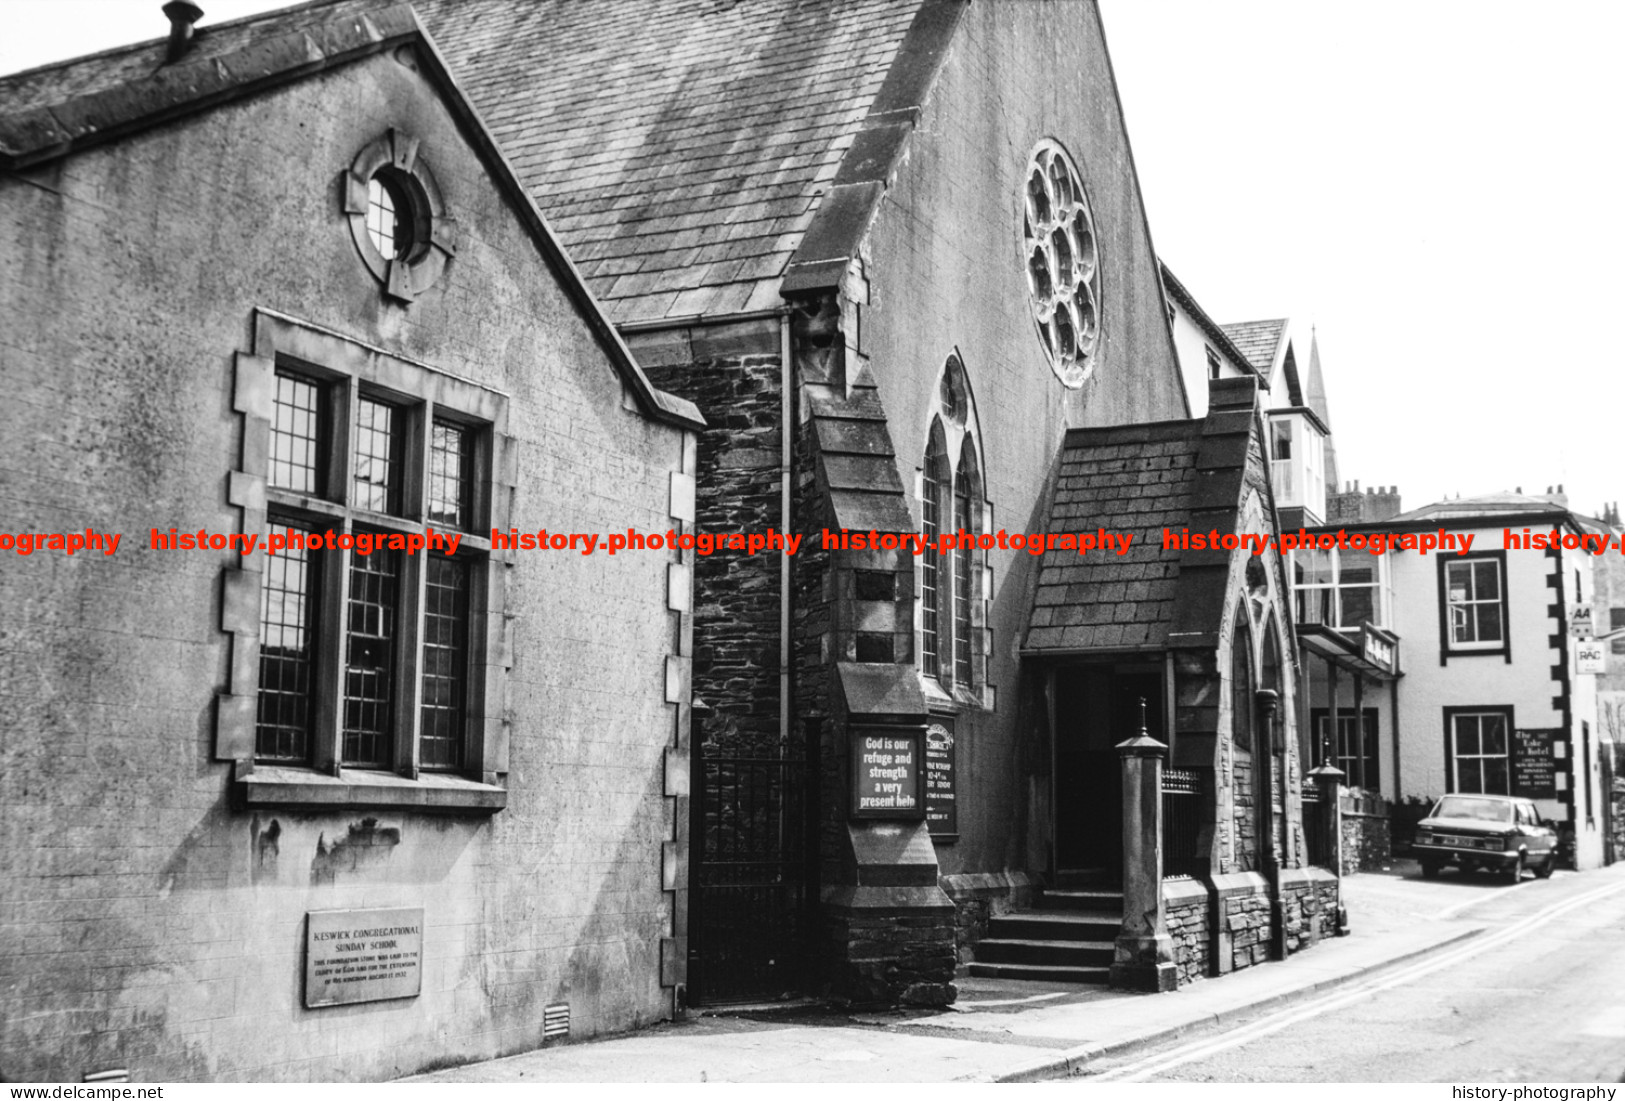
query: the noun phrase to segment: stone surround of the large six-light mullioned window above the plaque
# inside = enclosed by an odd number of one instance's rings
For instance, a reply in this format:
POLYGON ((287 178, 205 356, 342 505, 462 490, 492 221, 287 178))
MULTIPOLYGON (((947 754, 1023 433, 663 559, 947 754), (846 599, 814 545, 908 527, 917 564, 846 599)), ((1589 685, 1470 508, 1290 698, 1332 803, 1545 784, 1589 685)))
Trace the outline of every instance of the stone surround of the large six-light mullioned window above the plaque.
MULTIPOLYGON (((489 523, 505 528, 514 477, 514 450, 507 437, 509 396, 427 364, 414 362, 364 344, 332 330, 296 320, 266 309, 254 315, 254 351, 237 352, 232 408, 244 414, 242 463, 231 473, 228 500, 242 510, 242 529, 263 533, 276 508, 281 515, 301 512, 332 515, 343 521, 346 510, 336 502, 268 486, 270 424, 278 362, 297 365, 302 372, 325 377, 353 391, 369 388, 398 395, 421 411, 427 424, 432 409, 442 409, 465 424, 486 427, 486 464, 479 474, 489 500, 489 523)), ((427 434, 418 434, 427 447, 427 434)), ((336 440, 335 440, 336 445, 336 440)), ((333 447, 333 445, 330 445, 333 447)), ((348 479, 341 482, 348 492, 348 479)), ((262 555, 249 555, 223 573, 221 628, 231 635, 231 672, 228 690, 218 698, 218 760, 236 763, 234 794, 240 807, 280 809, 416 809, 442 814, 491 814, 507 804, 502 786, 507 773, 510 723, 502 702, 507 671, 512 666, 505 614, 505 572, 512 565, 507 552, 491 552, 479 534, 463 533, 458 554, 470 554, 471 602, 470 685, 466 724, 471 731, 465 745, 462 773, 429 773, 416 768, 416 747, 398 753, 395 771, 346 768, 338 763, 333 731, 315 731, 312 766, 257 765, 255 716, 258 702, 260 650, 260 585, 262 555), (479 557, 473 557, 479 555, 479 557)), ((421 557, 421 555, 414 555, 421 557)), ((408 575, 421 576, 421 568, 408 567, 408 575)), ((403 607, 411 607, 408 589, 403 607)), ((327 653, 335 653, 341 635, 338 617, 327 615, 320 625, 327 653)), ((408 632, 408 637, 413 637, 408 632)), ((416 661, 408 663, 414 684, 416 661)))

